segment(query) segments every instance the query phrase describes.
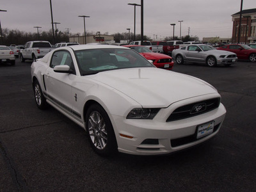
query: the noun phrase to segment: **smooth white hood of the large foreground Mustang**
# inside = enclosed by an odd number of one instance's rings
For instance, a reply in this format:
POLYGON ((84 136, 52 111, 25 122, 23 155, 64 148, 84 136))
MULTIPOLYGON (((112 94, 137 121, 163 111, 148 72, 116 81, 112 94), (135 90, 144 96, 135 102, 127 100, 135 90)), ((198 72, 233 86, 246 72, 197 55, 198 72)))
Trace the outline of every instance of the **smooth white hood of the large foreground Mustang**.
POLYGON ((164 108, 173 102, 217 93, 210 84, 196 77, 159 68, 125 68, 90 76, 136 100, 141 106, 164 108))

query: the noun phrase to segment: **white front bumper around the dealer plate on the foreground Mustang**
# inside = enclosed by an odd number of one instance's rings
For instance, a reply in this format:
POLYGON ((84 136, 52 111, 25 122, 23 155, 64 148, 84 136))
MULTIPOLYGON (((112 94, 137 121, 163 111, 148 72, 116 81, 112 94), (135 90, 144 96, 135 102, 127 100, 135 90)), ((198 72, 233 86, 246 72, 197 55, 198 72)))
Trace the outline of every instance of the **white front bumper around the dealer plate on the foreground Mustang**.
POLYGON ((114 115, 115 125, 113 127, 118 143, 118 151, 136 155, 159 155, 192 147, 216 135, 226 114, 225 107, 220 104, 217 109, 208 113, 166 122, 164 114, 166 114, 166 111, 172 111, 170 110, 171 106, 161 109, 153 120, 126 119, 114 115), (214 121, 214 132, 196 139, 198 125, 212 121, 214 121), (124 135, 132 138, 124 137, 124 135))

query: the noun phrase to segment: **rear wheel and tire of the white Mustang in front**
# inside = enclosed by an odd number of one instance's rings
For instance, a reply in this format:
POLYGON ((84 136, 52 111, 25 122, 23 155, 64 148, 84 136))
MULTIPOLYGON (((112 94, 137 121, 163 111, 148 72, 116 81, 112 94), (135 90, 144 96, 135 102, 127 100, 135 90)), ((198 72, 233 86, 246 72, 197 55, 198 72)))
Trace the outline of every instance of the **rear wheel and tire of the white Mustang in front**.
POLYGON ((47 105, 46 99, 44 97, 44 93, 42 92, 40 84, 38 83, 37 80, 33 83, 33 90, 34 90, 36 106, 39 109, 46 109, 48 105, 47 105))

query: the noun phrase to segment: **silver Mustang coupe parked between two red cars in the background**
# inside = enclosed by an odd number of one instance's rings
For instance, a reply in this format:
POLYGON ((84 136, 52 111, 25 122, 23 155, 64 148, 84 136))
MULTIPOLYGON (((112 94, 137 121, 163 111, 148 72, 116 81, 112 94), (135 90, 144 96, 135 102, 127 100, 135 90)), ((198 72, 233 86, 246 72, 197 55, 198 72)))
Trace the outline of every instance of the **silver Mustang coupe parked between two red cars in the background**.
POLYGON ((184 61, 193 63, 205 63, 209 67, 222 64, 230 66, 237 61, 237 56, 234 52, 217 50, 210 45, 197 44, 186 45, 180 49, 174 49, 172 58, 177 64, 183 64, 184 61))

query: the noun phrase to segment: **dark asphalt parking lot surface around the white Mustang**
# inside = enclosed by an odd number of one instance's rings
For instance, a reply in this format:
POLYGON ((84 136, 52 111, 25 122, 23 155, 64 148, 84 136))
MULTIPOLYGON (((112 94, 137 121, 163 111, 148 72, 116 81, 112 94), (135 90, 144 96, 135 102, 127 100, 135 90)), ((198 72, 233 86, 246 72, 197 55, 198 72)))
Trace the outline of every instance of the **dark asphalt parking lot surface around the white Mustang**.
POLYGON ((61 113, 36 108, 30 65, 0 65, 0 191, 256 191, 256 63, 174 65, 218 89, 220 132, 168 156, 108 158, 61 113))

